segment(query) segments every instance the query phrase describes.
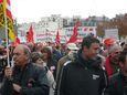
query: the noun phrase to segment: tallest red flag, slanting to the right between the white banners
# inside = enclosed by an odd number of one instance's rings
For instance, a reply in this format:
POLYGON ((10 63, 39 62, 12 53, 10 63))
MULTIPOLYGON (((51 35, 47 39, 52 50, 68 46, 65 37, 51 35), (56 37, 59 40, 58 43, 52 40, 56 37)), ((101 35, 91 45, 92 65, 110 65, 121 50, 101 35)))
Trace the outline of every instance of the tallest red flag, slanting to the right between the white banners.
POLYGON ((75 24, 75 27, 74 27, 74 29, 73 29, 73 34, 72 34, 72 36, 70 38, 70 40, 68 40, 67 43, 74 43, 74 42, 76 42, 76 40, 77 40, 77 29, 78 29, 78 27, 80 27, 80 20, 77 19, 76 24, 75 24))

